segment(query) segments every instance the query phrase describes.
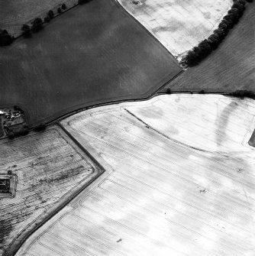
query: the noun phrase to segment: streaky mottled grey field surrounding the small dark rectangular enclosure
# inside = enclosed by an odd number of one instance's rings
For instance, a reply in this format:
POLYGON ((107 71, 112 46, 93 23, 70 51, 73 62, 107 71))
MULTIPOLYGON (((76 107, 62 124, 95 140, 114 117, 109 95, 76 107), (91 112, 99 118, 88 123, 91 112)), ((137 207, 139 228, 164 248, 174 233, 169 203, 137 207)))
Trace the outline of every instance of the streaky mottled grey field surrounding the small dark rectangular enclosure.
POLYGON ((2 255, 103 170, 55 125, 13 141, 3 139, 0 147, 0 173, 11 172, 18 180, 15 197, 0 199, 2 255))

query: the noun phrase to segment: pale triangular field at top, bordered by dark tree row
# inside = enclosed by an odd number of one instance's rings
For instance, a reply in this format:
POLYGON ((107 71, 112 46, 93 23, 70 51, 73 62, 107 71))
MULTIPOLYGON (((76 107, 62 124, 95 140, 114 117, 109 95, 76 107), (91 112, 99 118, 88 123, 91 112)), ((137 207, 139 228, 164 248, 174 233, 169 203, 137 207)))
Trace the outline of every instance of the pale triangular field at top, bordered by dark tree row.
POLYGON ((178 56, 208 37, 232 0, 116 0, 169 52, 178 56))

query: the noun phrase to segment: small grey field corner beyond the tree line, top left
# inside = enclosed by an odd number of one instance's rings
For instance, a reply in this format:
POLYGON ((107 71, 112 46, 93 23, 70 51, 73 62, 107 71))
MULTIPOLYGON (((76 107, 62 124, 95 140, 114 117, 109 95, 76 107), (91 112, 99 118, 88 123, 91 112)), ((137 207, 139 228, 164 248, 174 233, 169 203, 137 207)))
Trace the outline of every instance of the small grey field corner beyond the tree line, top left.
POLYGON ((21 34, 21 26, 34 18, 44 18, 48 11, 56 12, 56 7, 63 3, 73 6, 76 0, 0 0, 0 28, 8 30, 17 37, 21 34))

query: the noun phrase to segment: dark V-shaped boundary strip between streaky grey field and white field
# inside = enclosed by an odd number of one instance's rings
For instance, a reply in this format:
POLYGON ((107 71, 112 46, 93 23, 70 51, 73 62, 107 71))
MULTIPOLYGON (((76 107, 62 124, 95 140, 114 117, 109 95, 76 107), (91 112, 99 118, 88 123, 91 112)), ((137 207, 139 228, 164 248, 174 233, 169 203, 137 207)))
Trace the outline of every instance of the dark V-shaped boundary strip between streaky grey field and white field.
POLYGON ((16 254, 19 248, 21 248, 21 245, 23 245, 24 241, 27 240, 29 236, 31 236, 37 229, 39 229, 42 225, 44 225, 47 221, 49 221, 51 218, 53 218, 54 215, 56 215, 58 212, 60 212, 68 203, 70 203, 76 196, 79 195, 79 193, 82 193, 83 190, 86 189, 90 184, 92 184, 95 180, 98 179, 102 175, 102 173, 105 173, 105 168, 102 167, 102 164, 98 162, 98 160, 95 159, 95 157, 92 157, 91 154, 89 154, 89 151, 85 149, 85 147, 82 147, 82 144, 80 144, 76 138, 73 137, 72 134, 69 133, 69 131, 66 130, 66 128, 63 127, 63 125, 60 124, 60 122, 55 122, 55 125, 57 125, 61 131, 63 131, 64 134, 67 135, 67 137, 73 141, 74 144, 76 144, 79 149, 86 154, 90 160, 98 167, 99 172, 93 177, 91 180, 88 181, 86 184, 77 184, 77 189, 76 191, 69 195, 66 196, 66 199, 63 199, 63 203, 60 203, 60 206, 57 207, 52 207, 48 215, 45 217, 45 219, 37 221, 35 220, 34 222, 31 223, 30 226, 27 227, 27 232, 21 234, 18 236, 15 241, 11 242, 11 245, 5 250, 4 254, 2 256, 13 256, 16 254))

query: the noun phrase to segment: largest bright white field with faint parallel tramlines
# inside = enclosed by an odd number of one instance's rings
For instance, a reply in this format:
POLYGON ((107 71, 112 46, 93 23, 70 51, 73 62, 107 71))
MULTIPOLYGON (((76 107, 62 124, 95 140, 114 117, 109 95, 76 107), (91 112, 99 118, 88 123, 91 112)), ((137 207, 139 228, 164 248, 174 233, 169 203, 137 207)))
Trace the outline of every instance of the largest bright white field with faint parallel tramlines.
POLYGON ((171 95, 66 118, 106 172, 17 255, 253 256, 254 116, 250 99, 171 95))

